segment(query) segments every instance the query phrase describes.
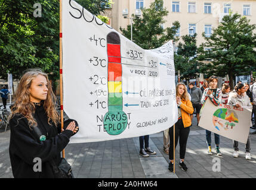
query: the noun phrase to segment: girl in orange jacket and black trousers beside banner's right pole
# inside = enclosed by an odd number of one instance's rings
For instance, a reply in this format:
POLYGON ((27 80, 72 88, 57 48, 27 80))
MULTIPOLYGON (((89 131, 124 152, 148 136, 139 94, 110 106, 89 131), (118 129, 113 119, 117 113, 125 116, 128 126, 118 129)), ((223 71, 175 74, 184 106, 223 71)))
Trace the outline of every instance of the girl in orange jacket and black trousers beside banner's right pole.
MULTIPOLYGON (((178 83, 176 86, 176 101, 178 106, 178 121, 175 124, 175 148, 178 143, 178 138, 180 138, 180 164, 179 166, 183 171, 187 171, 187 166, 184 163, 184 158, 186 154, 187 138, 189 137, 190 126, 192 126, 192 121, 190 119, 190 114, 193 114, 194 109, 192 103, 189 100, 189 93, 187 93, 187 88, 185 84, 178 83)), ((173 127, 169 128, 169 138, 170 142, 174 141, 173 127)), ((169 172, 173 172, 173 143, 169 147, 169 172)))

